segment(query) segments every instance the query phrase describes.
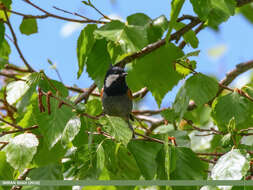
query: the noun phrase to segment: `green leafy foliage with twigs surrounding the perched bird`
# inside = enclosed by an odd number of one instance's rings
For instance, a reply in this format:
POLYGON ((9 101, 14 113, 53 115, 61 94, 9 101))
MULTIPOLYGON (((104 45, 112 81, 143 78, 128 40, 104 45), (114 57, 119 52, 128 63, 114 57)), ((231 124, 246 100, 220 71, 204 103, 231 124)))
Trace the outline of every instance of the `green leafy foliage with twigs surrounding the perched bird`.
MULTIPOLYGON (((30 1, 25 2, 38 9, 30 1)), ((97 10, 90 1, 83 3, 97 10)), ((194 50, 199 44, 194 27, 199 27, 199 31, 208 27, 218 29, 235 12, 252 22, 252 4, 237 8, 235 0, 191 0, 197 16, 180 17, 184 3, 184 0, 172 1, 170 18, 161 15, 152 19, 136 13, 123 22, 111 20, 101 12, 106 21, 82 18, 90 24, 84 26, 77 39, 77 78, 86 71, 94 84, 86 91, 86 101, 75 105, 76 94, 70 91, 82 89, 67 87, 32 68, 20 50, 8 19, 11 1, 0 0, 0 75, 4 77, 0 91, 3 109, 0 180, 17 179, 25 169, 29 169, 29 174, 23 179, 34 180, 252 178, 252 138, 250 143, 243 143, 252 135, 252 84, 242 89, 227 85, 253 64, 239 65, 233 74, 227 75, 226 82, 219 82, 198 73, 192 58, 199 55, 199 50, 194 50), (13 41, 6 38, 9 32, 13 41), (26 68, 9 63, 12 42, 26 68), (193 50, 184 52, 185 45, 193 50), (97 92, 103 87, 111 64, 127 65, 127 84, 139 94, 136 105, 150 91, 160 107, 164 96, 181 85, 172 107, 133 112, 138 118, 132 122, 136 138, 132 138, 125 120, 102 114, 97 92), (155 114, 160 114, 158 122, 153 120, 155 114), (195 135, 202 136, 198 140, 195 135)), ((38 32, 38 19, 68 20, 39 10, 45 16, 19 14, 23 17, 20 32, 28 38, 38 32)))

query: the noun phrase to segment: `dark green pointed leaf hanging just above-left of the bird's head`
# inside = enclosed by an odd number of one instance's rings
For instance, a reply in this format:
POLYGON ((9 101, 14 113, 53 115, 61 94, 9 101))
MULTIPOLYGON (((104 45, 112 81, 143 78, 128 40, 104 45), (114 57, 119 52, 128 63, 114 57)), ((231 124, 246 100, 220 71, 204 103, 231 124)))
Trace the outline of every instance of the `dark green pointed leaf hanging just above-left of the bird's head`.
POLYGON ((97 40, 86 62, 87 72, 99 88, 102 88, 105 74, 111 64, 106 40, 97 40))

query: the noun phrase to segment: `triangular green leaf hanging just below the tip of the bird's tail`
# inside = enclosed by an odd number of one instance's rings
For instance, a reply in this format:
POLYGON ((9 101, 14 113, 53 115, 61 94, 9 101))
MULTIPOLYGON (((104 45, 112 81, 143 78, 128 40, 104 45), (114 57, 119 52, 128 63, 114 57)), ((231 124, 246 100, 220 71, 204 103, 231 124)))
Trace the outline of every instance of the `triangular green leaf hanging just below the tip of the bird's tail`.
POLYGON ((162 145, 149 141, 130 141, 128 149, 133 154, 138 167, 145 179, 154 178, 157 171, 156 156, 162 145))

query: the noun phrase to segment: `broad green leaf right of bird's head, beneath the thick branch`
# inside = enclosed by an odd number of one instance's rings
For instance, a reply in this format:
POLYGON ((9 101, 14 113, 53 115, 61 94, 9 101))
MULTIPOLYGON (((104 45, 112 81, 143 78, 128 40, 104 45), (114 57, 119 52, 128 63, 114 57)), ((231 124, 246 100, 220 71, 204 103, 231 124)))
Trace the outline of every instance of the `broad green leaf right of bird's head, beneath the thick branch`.
POLYGON ((132 91, 148 87, 160 106, 164 95, 182 78, 175 71, 173 64, 173 61, 181 56, 181 49, 174 44, 168 44, 137 59, 127 76, 129 87, 132 91))

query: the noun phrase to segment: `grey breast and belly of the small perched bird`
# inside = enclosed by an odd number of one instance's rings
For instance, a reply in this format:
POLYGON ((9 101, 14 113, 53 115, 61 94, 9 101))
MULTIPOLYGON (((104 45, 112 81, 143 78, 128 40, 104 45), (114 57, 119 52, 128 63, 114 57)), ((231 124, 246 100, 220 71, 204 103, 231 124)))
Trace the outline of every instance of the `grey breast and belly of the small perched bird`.
POLYGON ((132 100, 124 94, 121 96, 107 96, 103 93, 103 107, 104 112, 111 116, 129 117, 132 111, 132 100))

